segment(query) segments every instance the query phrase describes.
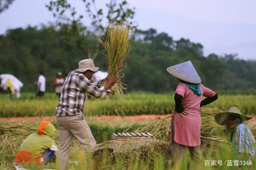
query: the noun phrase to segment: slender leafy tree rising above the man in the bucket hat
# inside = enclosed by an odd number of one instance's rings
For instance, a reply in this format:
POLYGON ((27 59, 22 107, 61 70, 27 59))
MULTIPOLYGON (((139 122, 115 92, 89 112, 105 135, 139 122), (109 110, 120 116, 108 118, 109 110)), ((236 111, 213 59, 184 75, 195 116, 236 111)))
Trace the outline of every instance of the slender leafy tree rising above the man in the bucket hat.
MULTIPOLYGON (((108 23, 124 22, 133 25, 134 9, 130 8, 126 0, 117 3, 110 0, 106 4, 108 11, 98 9, 95 0, 81 0, 85 5, 85 14, 78 14, 76 9, 67 0, 52 0, 46 7, 52 11, 53 16, 58 18, 58 25, 63 33, 66 50, 79 49, 86 57, 95 59, 102 49, 100 43, 92 33, 104 36, 106 26, 102 21, 106 19, 108 23), (83 24, 82 19, 89 16, 91 29, 83 24)), ((135 26, 133 26, 135 29, 135 26)))

